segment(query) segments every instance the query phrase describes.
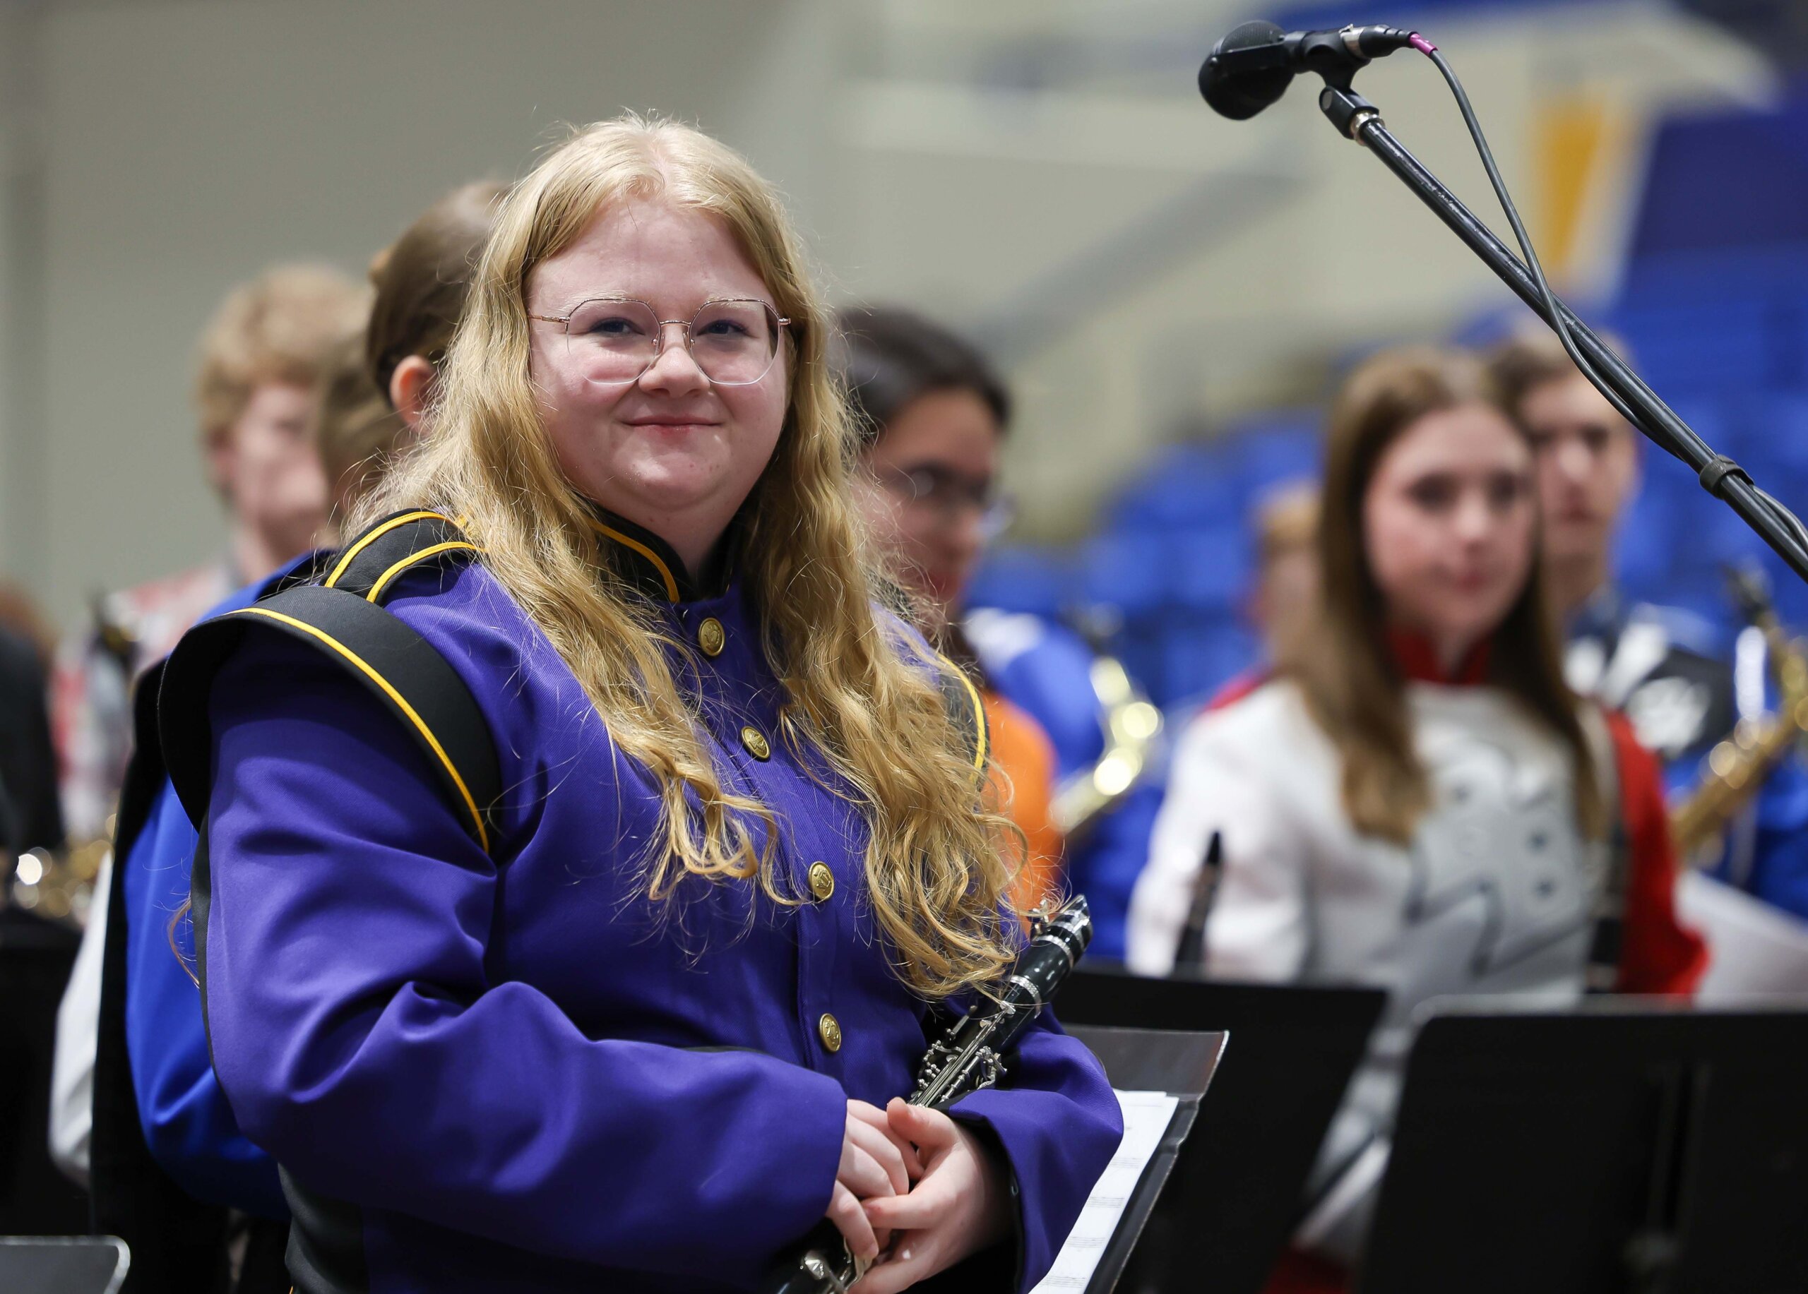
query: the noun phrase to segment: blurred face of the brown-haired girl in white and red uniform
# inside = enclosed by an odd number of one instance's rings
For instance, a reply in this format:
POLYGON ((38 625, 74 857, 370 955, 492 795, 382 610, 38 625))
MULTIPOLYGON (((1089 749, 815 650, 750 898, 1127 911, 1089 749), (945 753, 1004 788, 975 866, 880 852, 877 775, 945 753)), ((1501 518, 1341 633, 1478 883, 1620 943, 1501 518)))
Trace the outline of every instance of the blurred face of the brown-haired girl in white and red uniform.
POLYGON ((1493 633, 1531 575, 1531 450, 1490 405, 1410 423, 1363 493, 1363 544, 1387 618, 1446 665, 1493 633))

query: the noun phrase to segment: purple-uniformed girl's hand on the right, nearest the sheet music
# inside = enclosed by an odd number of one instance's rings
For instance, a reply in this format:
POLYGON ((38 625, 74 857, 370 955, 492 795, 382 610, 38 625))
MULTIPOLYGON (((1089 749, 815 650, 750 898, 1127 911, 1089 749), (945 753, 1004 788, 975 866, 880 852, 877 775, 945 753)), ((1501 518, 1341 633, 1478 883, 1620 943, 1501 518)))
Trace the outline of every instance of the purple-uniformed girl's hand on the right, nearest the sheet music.
POLYGON ((897 1243, 855 1287, 859 1294, 895 1294, 976 1254, 1011 1224, 1003 1169, 978 1137, 940 1110, 893 1101, 886 1119, 897 1137, 922 1155, 922 1180, 908 1195, 866 1200, 873 1231, 897 1231, 897 1243))

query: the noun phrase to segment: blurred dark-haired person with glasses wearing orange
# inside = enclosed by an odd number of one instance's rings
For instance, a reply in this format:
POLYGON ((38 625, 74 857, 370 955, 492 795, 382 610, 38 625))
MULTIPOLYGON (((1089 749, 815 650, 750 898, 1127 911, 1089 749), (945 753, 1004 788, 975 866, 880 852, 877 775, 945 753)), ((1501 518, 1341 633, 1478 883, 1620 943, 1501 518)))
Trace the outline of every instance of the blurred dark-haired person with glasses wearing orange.
POLYGON ((915 595, 913 620, 980 681, 993 766, 1007 779, 1011 819, 1029 842, 1012 904, 1032 909, 1059 889, 1061 835, 1049 817, 1054 746, 993 685, 960 625, 967 582, 1003 528, 998 459, 1011 396, 967 342, 902 309, 843 311, 844 378, 861 421, 866 522, 915 595))

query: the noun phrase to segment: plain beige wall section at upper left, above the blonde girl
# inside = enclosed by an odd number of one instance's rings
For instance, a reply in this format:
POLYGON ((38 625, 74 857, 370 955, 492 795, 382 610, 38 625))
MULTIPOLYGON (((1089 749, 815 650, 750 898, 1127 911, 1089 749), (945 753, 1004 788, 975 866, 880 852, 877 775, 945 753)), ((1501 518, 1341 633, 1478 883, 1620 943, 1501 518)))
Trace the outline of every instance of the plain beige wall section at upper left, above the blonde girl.
POLYGON ((7 493, 34 495, 42 530, 5 528, 5 566, 67 620, 94 589, 206 560, 219 506, 188 381, 226 287, 273 258, 362 273, 439 192, 521 173, 560 123, 622 107, 683 116, 788 190, 819 188, 808 123, 828 58, 808 9, 51 7, 38 33, 43 421, 9 427, 5 459, 18 464, 7 493))

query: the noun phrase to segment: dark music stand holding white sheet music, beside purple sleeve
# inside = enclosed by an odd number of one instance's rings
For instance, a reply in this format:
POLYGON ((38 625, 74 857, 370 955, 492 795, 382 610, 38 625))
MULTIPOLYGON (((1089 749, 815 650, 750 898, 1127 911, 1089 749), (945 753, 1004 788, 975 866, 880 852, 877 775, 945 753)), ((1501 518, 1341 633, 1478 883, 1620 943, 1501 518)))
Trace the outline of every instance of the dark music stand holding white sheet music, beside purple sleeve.
MULTIPOLYGON (((1072 983, 1072 976, 1067 983, 1072 983)), ((1065 992, 1067 985, 1061 990, 1065 992)), ((1164 1092, 1179 1101, 1155 1155, 1143 1167, 1143 1177, 1105 1243, 1105 1252, 1099 1254, 1092 1280, 1087 1281, 1085 1294, 1110 1294, 1123 1278, 1137 1240, 1143 1236, 1143 1227, 1148 1225, 1163 1186, 1173 1171, 1186 1133, 1193 1128, 1199 1102, 1204 1099, 1206 1088, 1211 1086, 1219 1059, 1224 1055, 1226 1036, 1087 1025, 1074 1025, 1067 1032, 1099 1057, 1105 1075, 1116 1090, 1164 1092)))

